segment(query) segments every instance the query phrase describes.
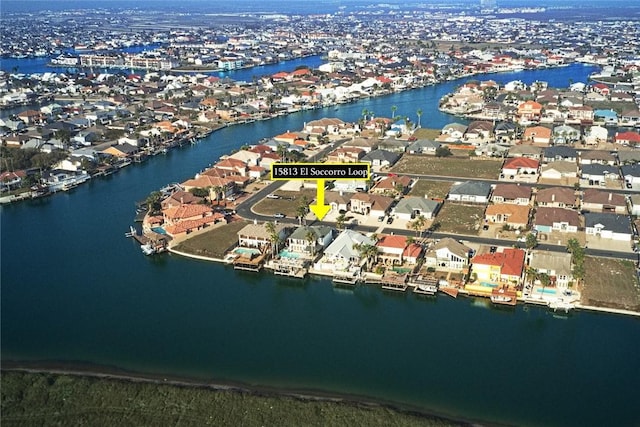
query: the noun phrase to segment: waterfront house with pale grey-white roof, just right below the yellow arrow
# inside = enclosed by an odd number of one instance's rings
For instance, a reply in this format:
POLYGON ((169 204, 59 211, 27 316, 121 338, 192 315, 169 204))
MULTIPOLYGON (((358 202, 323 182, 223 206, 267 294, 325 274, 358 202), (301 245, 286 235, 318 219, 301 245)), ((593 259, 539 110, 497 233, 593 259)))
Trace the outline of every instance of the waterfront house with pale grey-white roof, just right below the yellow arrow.
POLYGON ((327 246, 322 258, 313 266, 314 270, 329 273, 360 269, 363 260, 358 252, 362 245, 375 246, 376 241, 353 230, 343 230, 327 246))

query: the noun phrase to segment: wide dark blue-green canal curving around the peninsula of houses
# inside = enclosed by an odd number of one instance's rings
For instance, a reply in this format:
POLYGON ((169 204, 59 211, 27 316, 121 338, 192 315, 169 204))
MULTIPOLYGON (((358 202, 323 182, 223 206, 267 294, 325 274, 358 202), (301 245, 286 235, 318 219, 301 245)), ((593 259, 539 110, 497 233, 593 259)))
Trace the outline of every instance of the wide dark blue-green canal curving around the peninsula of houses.
MULTIPOLYGON (((590 71, 489 77, 566 86, 590 71)), ((640 425, 637 319, 344 291, 145 257, 124 238, 135 201, 231 149, 318 117, 389 116, 392 105, 440 127, 451 118, 437 101, 459 83, 225 128, 69 194, 3 206, 2 359, 349 394, 505 424, 640 425)))

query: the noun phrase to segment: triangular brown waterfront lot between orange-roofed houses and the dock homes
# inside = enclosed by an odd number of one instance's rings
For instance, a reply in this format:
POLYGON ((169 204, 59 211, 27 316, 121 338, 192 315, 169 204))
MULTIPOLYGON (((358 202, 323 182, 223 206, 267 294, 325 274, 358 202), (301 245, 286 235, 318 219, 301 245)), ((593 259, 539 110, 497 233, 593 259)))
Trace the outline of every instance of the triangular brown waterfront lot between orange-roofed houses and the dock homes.
POLYGON ((234 221, 212 228, 206 233, 191 237, 175 247, 175 250, 210 258, 222 258, 238 242, 238 231, 247 221, 234 221))

